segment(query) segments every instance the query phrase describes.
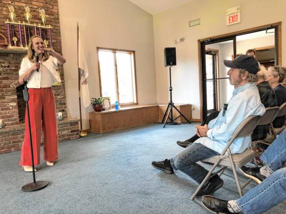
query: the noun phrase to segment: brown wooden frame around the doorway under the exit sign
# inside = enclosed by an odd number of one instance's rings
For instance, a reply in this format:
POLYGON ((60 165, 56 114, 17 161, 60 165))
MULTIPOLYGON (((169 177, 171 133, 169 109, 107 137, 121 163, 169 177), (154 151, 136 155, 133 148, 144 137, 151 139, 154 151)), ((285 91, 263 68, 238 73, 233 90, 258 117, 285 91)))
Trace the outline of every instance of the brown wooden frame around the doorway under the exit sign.
MULTIPOLYGON (((193 119, 193 121, 203 121, 204 115, 203 115, 203 91, 206 91, 206 88, 204 87, 203 89, 203 71, 202 71, 202 65, 204 63, 204 50, 202 49, 202 44, 206 42, 211 42, 211 41, 218 41, 220 39, 229 39, 232 37, 236 37, 239 35, 243 34, 248 34, 248 33, 254 33, 257 31, 262 31, 262 30, 267 30, 270 28, 276 28, 275 31, 275 60, 276 64, 281 65, 282 64, 282 22, 276 22, 272 24, 267 24, 267 25, 262 25, 258 27, 253 27, 253 28, 248 28, 245 30, 240 30, 240 31, 235 31, 231 33, 226 33, 226 34, 221 34, 213 37, 208 37, 204 39, 199 39, 198 40, 198 58, 199 58, 199 87, 200 87, 200 119, 193 119)), ((230 40, 230 39, 229 39, 230 40)), ((236 50, 234 51, 234 56, 236 55, 236 50)))

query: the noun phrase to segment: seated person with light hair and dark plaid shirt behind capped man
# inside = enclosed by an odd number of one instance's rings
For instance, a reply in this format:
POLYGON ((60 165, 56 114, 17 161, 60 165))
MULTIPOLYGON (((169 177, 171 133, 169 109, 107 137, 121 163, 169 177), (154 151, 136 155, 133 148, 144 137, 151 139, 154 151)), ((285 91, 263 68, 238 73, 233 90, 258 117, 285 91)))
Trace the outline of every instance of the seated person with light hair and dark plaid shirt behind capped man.
MULTIPOLYGON (((267 81, 268 74, 264 66, 260 66, 260 71, 257 72, 257 78, 258 80, 256 82, 256 86, 263 106, 264 107, 277 106, 276 94, 272 89, 272 87, 270 86, 269 82, 267 81)), ((219 111, 213 111, 210 115, 206 117, 202 125, 209 124, 209 122, 212 119, 217 117, 218 113, 219 111)), ((253 134, 251 135, 252 141, 265 139, 268 131, 269 131, 269 125, 257 126, 254 129, 253 134)), ((185 141, 177 141, 177 144, 183 148, 186 148, 189 144, 194 143, 197 139, 199 139, 199 136, 196 134, 190 139, 187 139, 185 141)))

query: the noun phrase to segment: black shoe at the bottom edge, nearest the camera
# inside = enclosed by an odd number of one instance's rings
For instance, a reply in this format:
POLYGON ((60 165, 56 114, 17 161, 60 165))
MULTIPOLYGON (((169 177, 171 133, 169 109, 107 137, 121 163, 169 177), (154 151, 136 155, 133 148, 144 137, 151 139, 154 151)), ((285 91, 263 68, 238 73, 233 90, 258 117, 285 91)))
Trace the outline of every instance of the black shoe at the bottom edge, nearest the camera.
POLYGON ((231 214, 227 209, 227 201, 214 198, 213 196, 203 196, 202 204, 207 210, 217 214, 231 214))

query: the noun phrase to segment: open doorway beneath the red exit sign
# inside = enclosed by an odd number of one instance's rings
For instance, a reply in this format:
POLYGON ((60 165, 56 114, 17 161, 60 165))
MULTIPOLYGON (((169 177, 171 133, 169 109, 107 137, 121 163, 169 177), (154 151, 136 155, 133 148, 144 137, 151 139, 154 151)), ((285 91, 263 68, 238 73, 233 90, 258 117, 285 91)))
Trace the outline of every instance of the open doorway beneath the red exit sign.
POLYGON ((220 110, 232 97, 223 60, 232 60, 248 49, 256 50, 265 67, 281 64, 281 22, 199 40, 201 70, 201 120, 220 110))

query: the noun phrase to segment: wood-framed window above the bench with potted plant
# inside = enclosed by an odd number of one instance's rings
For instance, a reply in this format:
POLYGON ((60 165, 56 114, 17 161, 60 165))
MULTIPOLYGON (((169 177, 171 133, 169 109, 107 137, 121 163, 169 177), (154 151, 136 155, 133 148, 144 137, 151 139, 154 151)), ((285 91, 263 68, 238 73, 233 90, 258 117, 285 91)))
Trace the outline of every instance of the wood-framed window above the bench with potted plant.
POLYGON ((101 97, 137 104, 135 51, 97 48, 101 97))

